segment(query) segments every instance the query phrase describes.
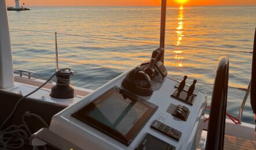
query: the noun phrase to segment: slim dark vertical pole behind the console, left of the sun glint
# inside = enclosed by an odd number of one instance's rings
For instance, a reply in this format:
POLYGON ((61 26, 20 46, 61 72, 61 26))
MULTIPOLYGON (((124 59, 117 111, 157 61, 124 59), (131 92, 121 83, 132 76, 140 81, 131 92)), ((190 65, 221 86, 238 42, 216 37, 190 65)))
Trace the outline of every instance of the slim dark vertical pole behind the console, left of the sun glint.
POLYGON ((163 49, 163 55, 161 61, 164 60, 164 39, 165 39, 165 27, 166 27, 166 1, 162 0, 161 6, 161 27, 160 27, 160 48, 163 49))

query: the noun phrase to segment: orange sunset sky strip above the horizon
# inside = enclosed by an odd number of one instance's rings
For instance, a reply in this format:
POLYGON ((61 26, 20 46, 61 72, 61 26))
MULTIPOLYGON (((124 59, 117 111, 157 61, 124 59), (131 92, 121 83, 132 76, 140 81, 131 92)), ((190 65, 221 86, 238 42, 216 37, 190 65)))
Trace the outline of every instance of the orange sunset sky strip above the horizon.
MULTIPOLYGON (((14 0, 5 0, 14 6, 14 0)), ((167 0, 167 5, 179 5, 177 1, 188 1, 184 5, 256 5, 256 0, 167 0)), ((21 0, 25 6, 159 6, 161 0, 21 0)))

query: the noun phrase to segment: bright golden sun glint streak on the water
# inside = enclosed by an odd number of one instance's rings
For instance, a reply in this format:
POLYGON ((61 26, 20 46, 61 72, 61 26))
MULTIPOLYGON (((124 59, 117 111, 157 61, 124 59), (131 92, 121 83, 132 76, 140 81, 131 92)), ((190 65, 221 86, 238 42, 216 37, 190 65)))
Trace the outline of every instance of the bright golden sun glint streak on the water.
MULTIPOLYGON (((183 16, 183 10, 184 10, 184 7, 183 6, 180 6, 180 9, 179 9, 179 14, 178 14, 178 27, 176 28, 176 33, 177 33, 177 42, 175 43, 176 46, 180 46, 181 45, 181 42, 182 42, 182 38, 184 37, 184 32, 183 32, 183 29, 184 29, 184 16, 183 16)), ((184 57, 181 56, 182 54, 182 50, 174 50, 173 51, 174 54, 175 54, 175 59, 177 59, 177 67, 182 67, 182 59, 184 59, 184 57)))

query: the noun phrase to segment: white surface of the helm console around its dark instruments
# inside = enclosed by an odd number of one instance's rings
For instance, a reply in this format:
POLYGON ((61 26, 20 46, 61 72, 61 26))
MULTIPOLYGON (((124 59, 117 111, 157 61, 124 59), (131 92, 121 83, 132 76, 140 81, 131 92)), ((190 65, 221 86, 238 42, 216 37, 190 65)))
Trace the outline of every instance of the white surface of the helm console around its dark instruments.
POLYGON ((171 78, 165 78, 162 84, 153 83, 154 87, 158 88, 155 88, 156 90, 153 92, 152 96, 140 96, 141 98, 148 100, 148 102, 158 106, 158 109, 140 130, 129 147, 119 143, 119 141, 116 141, 114 138, 101 133, 91 126, 86 125, 86 123, 71 117, 71 114, 86 106, 86 104, 89 104, 98 96, 107 92, 109 89, 115 86, 122 87, 122 80, 129 71, 114 78, 114 80, 109 81, 109 83, 90 93, 78 103, 75 103, 74 105, 67 107, 65 110, 54 115, 50 124, 50 130, 66 140, 71 141, 71 143, 74 143, 82 149, 135 149, 138 147, 147 133, 158 137, 166 143, 174 145, 176 149, 191 149, 192 147, 195 149, 196 134, 198 133, 198 130, 201 129, 200 122, 202 122, 202 115, 204 114, 204 108, 206 107, 207 103, 206 94, 198 91, 198 95, 196 96, 193 106, 181 102, 180 100, 171 98, 170 95, 173 93, 174 86, 177 84, 177 81, 174 81, 171 78), (170 113, 167 113, 166 110, 171 103, 175 105, 181 104, 182 106, 189 108, 190 114, 186 121, 182 121, 181 119, 173 117, 173 115, 170 113), (150 126, 155 119, 182 132, 180 140, 175 141, 172 138, 164 136, 162 133, 151 129, 150 126))

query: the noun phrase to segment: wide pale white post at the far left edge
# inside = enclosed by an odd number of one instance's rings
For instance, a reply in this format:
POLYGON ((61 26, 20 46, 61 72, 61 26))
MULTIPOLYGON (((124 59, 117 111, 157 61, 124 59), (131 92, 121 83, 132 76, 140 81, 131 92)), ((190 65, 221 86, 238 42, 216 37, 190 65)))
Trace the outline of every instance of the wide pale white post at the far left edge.
POLYGON ((5 0, 0 1, 0 89, 13 87, 12 51, 5 0))

